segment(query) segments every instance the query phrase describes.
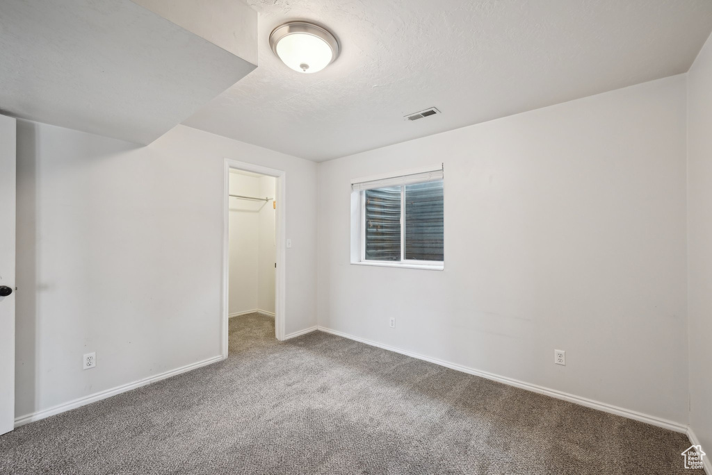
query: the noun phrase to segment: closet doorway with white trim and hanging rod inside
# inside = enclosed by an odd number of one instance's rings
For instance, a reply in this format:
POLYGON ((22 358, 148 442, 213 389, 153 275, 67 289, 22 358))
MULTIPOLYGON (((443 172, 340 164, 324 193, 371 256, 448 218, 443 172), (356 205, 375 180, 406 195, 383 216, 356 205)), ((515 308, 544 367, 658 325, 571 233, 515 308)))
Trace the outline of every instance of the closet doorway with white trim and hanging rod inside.
POLYGON ((226 160, 224 182, 223 357, 241 324, 284 336, 284 196, 282 171, 226 160))

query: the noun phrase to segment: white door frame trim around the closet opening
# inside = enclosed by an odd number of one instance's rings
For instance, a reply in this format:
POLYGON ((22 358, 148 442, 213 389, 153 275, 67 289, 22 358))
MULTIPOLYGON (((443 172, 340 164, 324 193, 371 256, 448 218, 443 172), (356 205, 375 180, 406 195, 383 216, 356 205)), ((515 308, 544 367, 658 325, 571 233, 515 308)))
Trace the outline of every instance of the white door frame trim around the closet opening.
POLYGON ((259 166, 237 161, 233 159, 225 159, 224 176, 223 176, 223 262, 222 262, 222 356, 227 358, 228 353, 228 322, 229 322, 229 277, 230 277, 230 170, 251 171, 252 173, 273 176, 276 178, 275 200, 277 201, 276 218, 275 218, 275 233, 276 233, 276 260, 277 272, 275 278, 275 302, 274 302, 274 333, 278 340, 284 339, 284 324, 285 315, 285 297, 286 297, 286 259, 285 249, 287 247, 286 240, 286 173, 283 170, 269 169, 266 166, 259 166))

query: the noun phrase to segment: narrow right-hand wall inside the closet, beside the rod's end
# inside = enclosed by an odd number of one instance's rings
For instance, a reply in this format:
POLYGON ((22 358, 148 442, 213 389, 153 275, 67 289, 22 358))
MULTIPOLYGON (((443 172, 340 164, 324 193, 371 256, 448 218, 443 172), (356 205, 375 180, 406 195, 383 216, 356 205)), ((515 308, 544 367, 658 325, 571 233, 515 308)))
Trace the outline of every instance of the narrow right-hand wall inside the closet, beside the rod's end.
MULTIPOLYGON (((276 194, 276 178, 261 176, 259 178, 259 193, 257 196, 274 198, 276 194)), ((275 218, 276 210, 273 202, 263 203, 258 216, 258 304, 262 311, 274 313, 275 289, 275 262, 277 261, 277 248, 275 247, 275 218)))

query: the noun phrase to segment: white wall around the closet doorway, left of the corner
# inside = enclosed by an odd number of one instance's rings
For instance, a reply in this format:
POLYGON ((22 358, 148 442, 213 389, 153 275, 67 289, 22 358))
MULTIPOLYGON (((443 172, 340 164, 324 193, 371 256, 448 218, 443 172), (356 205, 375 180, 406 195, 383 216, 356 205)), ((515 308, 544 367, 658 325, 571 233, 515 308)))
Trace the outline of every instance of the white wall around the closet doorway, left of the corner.
POLYGON ((221 354, 226 157, 286 171, 286 333, 315 325, 316 164, 18 122, 17 416, 221 354))

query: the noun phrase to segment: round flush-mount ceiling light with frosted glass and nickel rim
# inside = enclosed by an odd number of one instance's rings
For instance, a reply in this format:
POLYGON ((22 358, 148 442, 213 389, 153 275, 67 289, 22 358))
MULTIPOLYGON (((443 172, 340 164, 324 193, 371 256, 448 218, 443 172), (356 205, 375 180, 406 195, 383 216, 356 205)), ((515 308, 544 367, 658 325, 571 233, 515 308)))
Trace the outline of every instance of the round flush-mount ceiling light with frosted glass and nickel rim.
POLYGON ((305 21, 290 21, 269 36, 274 53, 299 73, 316 73, 339 55, 339 42, 330 31, 305 21))

